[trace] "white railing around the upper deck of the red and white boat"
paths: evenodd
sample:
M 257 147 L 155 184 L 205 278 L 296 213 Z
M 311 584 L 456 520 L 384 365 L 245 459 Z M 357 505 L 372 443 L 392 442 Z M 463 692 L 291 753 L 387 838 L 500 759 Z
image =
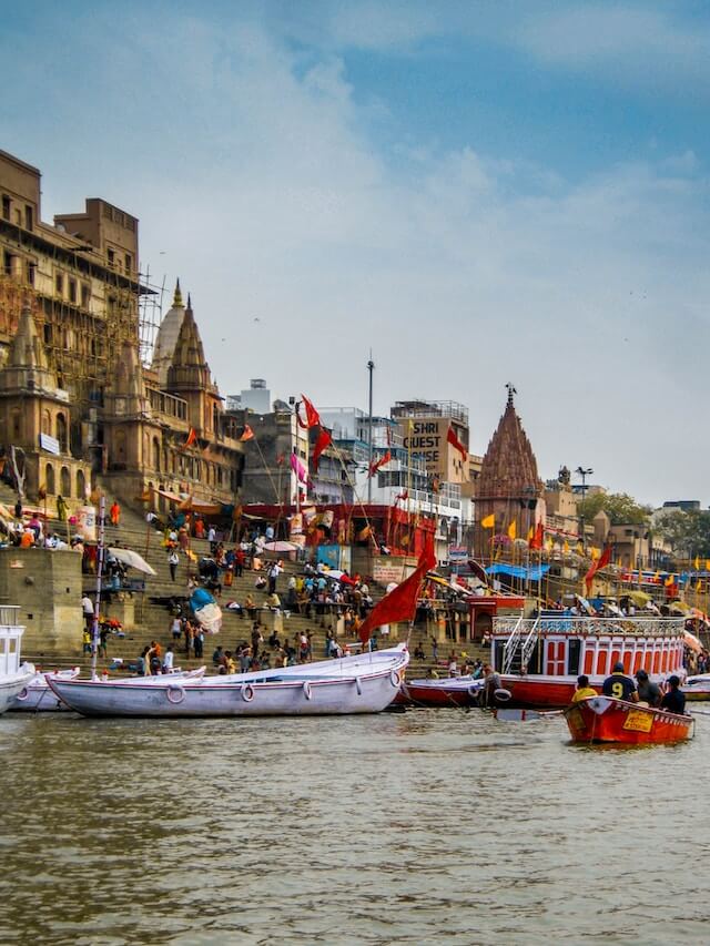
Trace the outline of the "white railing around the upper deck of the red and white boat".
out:
M 680 638 L 686 627 L 684 618 L 494 618 L 495 637 L 508 637 L 506 649 L 525 634 L 568 634 L 570 637 L 639 637 Z M 532 644 L 534 647 L 534 644 Z M 531 651 L 530 651 L 531 652 Z M 504 650 L 505 653 L 505 650 Z

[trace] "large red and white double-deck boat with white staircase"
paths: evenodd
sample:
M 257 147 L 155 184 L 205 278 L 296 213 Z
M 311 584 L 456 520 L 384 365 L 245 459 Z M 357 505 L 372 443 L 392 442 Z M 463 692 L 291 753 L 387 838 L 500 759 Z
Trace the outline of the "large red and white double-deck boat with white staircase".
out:
M 495 618 L 491 663 L 507 705 L 552 709 L 567 706 L 577 677 L 601 690 L 615 664 L 632 677 L 643 669 L 656 683 L 671 674 L 681 680 L 684 618 L 559 617 Z

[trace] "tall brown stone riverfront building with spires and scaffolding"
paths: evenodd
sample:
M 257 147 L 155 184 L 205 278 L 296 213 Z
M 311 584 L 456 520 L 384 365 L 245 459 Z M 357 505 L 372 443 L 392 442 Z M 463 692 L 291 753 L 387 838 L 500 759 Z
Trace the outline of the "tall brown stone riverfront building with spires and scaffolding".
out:
M 28 498 L 231 502 L 242 449 L 180 287 L 159 328 L 139 221 L 101 199 L 42 221 L 41 174 L 0 152 L 0 448 Z M 155 352 L 153 357 L 153 340 Z

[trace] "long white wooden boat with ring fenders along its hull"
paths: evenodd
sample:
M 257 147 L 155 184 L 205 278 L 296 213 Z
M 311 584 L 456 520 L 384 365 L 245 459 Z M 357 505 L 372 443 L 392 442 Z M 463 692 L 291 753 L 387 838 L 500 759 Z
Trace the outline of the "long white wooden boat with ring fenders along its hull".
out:
M 399 692 L 404 644 L 297 667 L 175 680 L 53 680 L 49 685 L 85 716 L 301 716 L 378 713 Z

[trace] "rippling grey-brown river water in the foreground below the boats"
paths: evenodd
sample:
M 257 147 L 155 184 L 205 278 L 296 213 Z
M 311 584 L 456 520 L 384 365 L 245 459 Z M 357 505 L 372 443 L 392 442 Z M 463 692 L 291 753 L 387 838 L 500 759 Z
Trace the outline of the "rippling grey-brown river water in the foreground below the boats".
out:
M 0 718 L 0 942 L 708 942 L 710 716 Z

